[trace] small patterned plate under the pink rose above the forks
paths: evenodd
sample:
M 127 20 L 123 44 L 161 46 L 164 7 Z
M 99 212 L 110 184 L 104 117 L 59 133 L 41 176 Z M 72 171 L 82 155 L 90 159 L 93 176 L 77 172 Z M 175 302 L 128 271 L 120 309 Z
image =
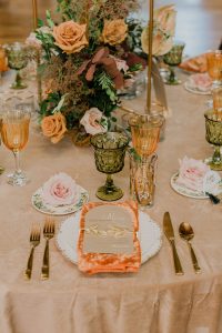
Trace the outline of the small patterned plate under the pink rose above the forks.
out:
M 50 214 L 50 215 L 67 215 L 79 211 L 84 203 L 89 201 L 89 193 L 82 186 L 79 186 L 80 195 L 75 202 L 72 204 L 58 205 L 53 206 L 48 204 L 42 199 L 42 188 L 38 189 L 31 199 L 32 205 L 36 210 L 41 213 Z

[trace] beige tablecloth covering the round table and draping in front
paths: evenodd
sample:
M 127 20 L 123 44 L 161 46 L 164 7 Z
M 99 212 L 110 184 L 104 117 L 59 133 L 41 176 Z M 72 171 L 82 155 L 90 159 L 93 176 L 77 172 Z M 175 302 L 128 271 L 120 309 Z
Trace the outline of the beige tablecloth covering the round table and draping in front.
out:
M 185 79 L 185 77 L 183 77 Z M 31 205 L 32 193 L 53 173 L 64 171 L 88 189 L 90 199 L 103 183 L 95 170 L 91 148 L 77 148 L 69 139 L 57 145 L 32 127 L 22 164 L 31 182 L 12 188 L 0 178 L 0 332 L 1 333 L 221 333 L 222 326 L 222 204 L 175 193 L 170 178 L 185 154 L 203 159 L 212 154 L 204 139 L 204 103 L 208 97 L 189 93 L 183 85 L 168 87 L 172 117 L 165 140 L 158 149 L 155 203 L 147 213 L 162 226 L 165 211 L 172 216 L 178 251 L 185 274 L 174 274 L 170 244 L 163 236 L 160 252 L 137 274 L 87 276 L 50 244 L 51 278 L 40 280 L 44 242 L 37 248 L 31 281 L 23 270 L 29 254 L 32 222 L 44 215 Z M 134 103 L 143 109 L 142 98 Z M 12 154 L 0 149 L 0 163 L 9 171 Z M 114 175 L 129 198 L 129 162 Z M 65 218 L 57 218 L 57 224 Z M 195 231 L 193 246 L 201 274 L 193 272 L 188 245 L 178 226 L 189 221 Z

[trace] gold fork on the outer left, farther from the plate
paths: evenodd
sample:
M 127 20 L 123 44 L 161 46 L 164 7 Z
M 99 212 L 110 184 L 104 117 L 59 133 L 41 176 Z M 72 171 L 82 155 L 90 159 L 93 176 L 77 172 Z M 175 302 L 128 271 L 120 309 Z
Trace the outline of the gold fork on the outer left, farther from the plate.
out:
M 40 243 L 40 225 L 39 224 L 34 224 L 31 229 L 30 243 L 31 243 L 31 252 L 30 252 L 30 255 L 29 255 L 29 259 L 27 262 L 27 269 L 24 272 L 24 278 L 27 280 L 31 279 L 34 249 Z

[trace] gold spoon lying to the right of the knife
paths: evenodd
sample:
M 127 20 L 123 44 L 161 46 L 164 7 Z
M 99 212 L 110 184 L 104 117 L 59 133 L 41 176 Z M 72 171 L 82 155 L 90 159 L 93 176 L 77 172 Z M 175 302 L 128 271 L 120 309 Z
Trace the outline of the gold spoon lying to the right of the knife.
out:
M 191 259 L 192 259 L 192 263 L 193 263 L 193 268 L 194 268 L 195 273 L 200 273 L 201 268 L 199 266 L 198 259 L 195 256 L 195 253 L 194 253 L 193 248 L 192 248 L 191 242 L 190 242 L 194 238 L 194 231 L 193 231 L 192 226 L 190 225 L 190 223 L 182 222 L 179 226 L 179 233 L 180 233 L 180 236 L 184 241 L 186 241 L 186 243 L 190 248 Z

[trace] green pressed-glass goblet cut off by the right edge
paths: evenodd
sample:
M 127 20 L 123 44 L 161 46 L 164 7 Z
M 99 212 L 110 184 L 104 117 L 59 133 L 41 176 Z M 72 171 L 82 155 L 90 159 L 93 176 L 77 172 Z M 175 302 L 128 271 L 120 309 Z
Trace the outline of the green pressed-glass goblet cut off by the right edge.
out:
M 205 139 L 214 145 L 213 157 L 206 159 L 205 162 L 212 170 L 222 170 L 222 112 L 215 110 L 206 111 L 205 114 Z

